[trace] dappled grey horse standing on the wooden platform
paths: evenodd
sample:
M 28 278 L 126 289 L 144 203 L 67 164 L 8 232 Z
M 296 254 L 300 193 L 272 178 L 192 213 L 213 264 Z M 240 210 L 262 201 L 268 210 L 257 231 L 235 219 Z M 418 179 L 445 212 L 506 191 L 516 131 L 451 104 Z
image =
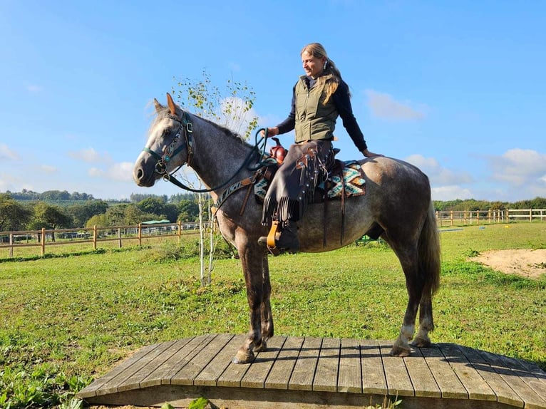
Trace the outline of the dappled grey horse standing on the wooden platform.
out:
M 163 178 L 197 192 L 172 175 L 188 165 L 207 187 L 201 191 L 221 201 L 215 214 L 217 225 L 239 253 L 250 310 L 249 332 L 232 361 L 249 363 L 255 353 L 266 350 L 267 340 L 274 334 L 269 252 L 258 243 L 268 229 L 261 224 L 262 205 L 248 200 L 247 189 L 234 186 L 252 185 L 262 155 L 256 145 L 231 130 L 182 110 L 170 94 L 167 102 L 164 106 L 154 99 L 156 115 L 135 162 L 133 179 L 141 187 L 152 187 Z M 299 251 L 328 252 L 366 234 L 381 237 L 398 257 L 408 291 L 406 313 L 390 353 L 409 356 L 411 346 L 431 346 L 432 299 L 440 282 L 440 243 L 431 186 L 421 170 L 402 160 L 371 157 L 359 163 L 365 174 L 366 193 L 346 198 L 343 209 L 340 200 L 309 204 L 298 222 Z M 418 310 L 419 327 L 414 338 Z

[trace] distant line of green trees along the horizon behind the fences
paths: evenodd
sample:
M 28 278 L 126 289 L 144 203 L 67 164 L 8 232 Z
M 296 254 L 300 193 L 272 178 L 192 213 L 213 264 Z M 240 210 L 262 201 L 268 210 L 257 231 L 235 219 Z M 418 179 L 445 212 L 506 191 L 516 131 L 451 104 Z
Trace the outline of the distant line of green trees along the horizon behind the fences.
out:
M 66 202 L 70 204 L 67 205 Z M 535 197 L 513 203 L 474 199 L 435 200 L 434 207 L 438 211 L 546 209 L 546 198 Z M 172 223 L 197 222 L 197 196 L 192 193 L 170 197 L 133 194 L 130 195 L 130 202 L 106 202 L 86 193 L 58 190 L 43 193 L 29 190 L 0 193 L 0 232 L 123 226 L 164 219 Z

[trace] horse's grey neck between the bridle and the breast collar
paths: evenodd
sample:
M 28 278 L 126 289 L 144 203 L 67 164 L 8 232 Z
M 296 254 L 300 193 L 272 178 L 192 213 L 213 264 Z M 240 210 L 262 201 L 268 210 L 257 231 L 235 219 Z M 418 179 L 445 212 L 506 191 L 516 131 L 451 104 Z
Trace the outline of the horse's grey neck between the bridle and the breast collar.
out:
M 225 135 L 224 130 L 217 128 L 201 118 L 195 118 L 193 128 L 193 157 L 191 167 L 208 188 L 214 189 L 230 180 L 249 154 L 249 145 L 242 141 Z M 231 183 L 238 182 L 249 175 L 249 170 L 244 167 L 236 177 L 220 189 L 216 195 L 220 195 Z

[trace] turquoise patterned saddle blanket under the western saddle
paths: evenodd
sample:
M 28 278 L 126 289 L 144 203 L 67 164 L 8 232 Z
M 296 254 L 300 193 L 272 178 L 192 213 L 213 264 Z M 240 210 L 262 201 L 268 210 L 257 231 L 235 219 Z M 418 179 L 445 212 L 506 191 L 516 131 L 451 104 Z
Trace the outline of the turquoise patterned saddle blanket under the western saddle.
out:
M 334 174 L 316 187 L 316 189 L 326 190 L 328 199 L 339 199 L 344 194 L 345 197 L 366 195 L 366 179 L 364 179 L 364 170 L 356 160 L 341 162 L 344 167 L 341 174 Z M 265 179 L 259 180 L 254 184 L 254 195 L 257 200 L 263 201 L 269 182 Z

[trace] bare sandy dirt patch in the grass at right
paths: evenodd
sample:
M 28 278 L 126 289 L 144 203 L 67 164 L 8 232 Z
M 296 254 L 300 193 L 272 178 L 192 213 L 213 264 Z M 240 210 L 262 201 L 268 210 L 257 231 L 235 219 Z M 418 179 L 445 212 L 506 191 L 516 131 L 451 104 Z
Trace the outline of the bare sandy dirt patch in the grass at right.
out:
M 493 250 L 470 257 L 469 260 L 506 274 L 519 274 L 530 279 L 546 274 L 546 249 Z

